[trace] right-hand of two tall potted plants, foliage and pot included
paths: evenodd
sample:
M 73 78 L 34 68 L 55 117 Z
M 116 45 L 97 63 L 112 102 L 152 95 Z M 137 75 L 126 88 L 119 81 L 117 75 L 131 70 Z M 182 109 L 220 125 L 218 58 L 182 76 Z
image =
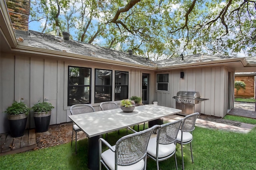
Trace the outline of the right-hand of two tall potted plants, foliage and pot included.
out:
M 36 126 L 36 132 L 46 132 L 49 129 L 51 111 L 54 108 L 51 103 L 38 102 L 32 106 L 34 111 L 34 121 Z

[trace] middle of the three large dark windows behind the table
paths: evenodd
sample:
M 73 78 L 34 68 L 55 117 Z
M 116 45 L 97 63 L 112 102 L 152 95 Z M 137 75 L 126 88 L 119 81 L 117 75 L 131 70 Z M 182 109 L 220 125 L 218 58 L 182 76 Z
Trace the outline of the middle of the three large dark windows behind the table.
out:
M 112 101 L 112 70 L 95 69 L 94 103 Z

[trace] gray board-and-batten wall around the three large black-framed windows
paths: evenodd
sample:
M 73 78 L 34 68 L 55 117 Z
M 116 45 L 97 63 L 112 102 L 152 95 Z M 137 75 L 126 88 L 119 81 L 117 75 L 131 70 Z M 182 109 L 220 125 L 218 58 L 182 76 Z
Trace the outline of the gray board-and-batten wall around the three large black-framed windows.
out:
M 54 109 L 52 110 L 50 124 L 58 124 L 69 122 L 70 115 L 67 106 L 68 100 L 68 66 L 82 66 L 92 68 L 92 106 L 95 110 L 99 110 L 99 103 L 94 104 L 94 68 L 113 70 L 114 71 L 128 71 L 128 97 L 141 96 L 141 80 L 142 73 L 154 75 L 150 70 L 140 70 L 122 66 L 114 66 L 109 64 L 97 64 L 64 61 L 49 58 L 14 56 L 12 54 L 1 53 L 0 55 L 0 133 L 9 131 L 8 120 L 6 113 L 3 113 L 14 100 L 20 101 L 24 99 L 24 103 L 32 107 L 38 101 L 50 102 Z M 151 78 L 150 78 L 151 79 Z M 154 79 L 151 79 L 151 82 Z M 151 83 L 154 85 L 154 83 Z M 154 88 L 154 87 L 152 87 Z M 151 89 L 152 89 L 151 88 Z M 152 90 L 150 90 L 150 101 L 152 103 L 154 97 Z M 112 85 L 112 100 L 114 101 L 114 82 Z M 116 101 L 119 103 L 119 101 Z M 33 111 L 30 111 L 28 116 L 26 128 L 34 128 Z

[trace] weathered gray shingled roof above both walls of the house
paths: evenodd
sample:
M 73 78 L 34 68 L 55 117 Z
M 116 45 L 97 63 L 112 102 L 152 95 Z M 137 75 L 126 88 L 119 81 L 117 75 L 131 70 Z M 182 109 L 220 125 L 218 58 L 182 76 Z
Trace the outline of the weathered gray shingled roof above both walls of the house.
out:
M 64 51 L 70 54 L 82 55 L 84 57 L 93 57 L 98 59 L 107 59 L 111 61 L 124 62 L 128 64 L 137 64 L 138 66 L 149 66 L 155 68 L 174 68 L 177 66 L 189 66 L 189 65 L 204 65 L 215 62 L 228 62 L 232 59 L 241 59 L 241 57 L 230 57 L 222 55 L 188 55 L 184 56 L 184 60 L 181 57 L 171 58 L 161 61 L 150 61 L 144 57 L 137 55 L 129 55 L 122 51 L 116 51 L 96 45 L 74 41 L 64 40 L 62 37 L 56 37 L 37 31 L 29 31 L 28 35 L 19 34 L 16 32 L 16 37 L 22 37 L 29 47 L 38 47 L 42 49 L 49 49 L 54 51 Z

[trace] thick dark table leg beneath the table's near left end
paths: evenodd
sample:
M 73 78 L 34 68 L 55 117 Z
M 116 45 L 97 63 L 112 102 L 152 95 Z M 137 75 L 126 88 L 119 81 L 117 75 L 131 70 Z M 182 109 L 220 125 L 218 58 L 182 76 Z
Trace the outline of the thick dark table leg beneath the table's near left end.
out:
M 88 167 L 90 170 L 99 169 L 99 139 L 102 135 L 88 138 Z

